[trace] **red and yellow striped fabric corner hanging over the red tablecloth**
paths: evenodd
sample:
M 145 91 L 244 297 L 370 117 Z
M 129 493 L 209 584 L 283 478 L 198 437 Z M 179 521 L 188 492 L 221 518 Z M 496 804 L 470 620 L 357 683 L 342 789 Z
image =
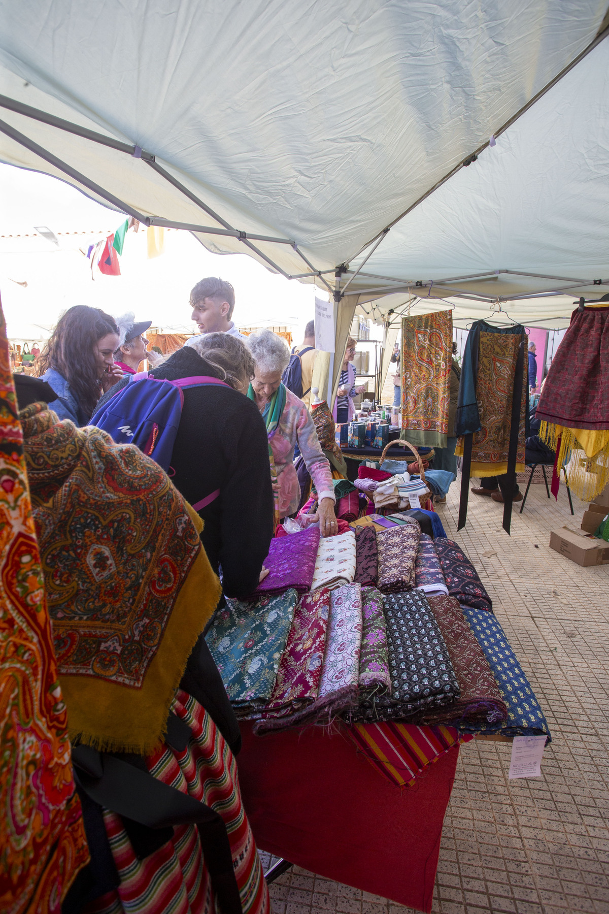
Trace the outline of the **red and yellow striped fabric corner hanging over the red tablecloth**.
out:
M 412 787 L 448 749 L 473 739 L 454 727 L 397 723 L 355 724 L 347 732 L 373 768 L 397 787 Z

